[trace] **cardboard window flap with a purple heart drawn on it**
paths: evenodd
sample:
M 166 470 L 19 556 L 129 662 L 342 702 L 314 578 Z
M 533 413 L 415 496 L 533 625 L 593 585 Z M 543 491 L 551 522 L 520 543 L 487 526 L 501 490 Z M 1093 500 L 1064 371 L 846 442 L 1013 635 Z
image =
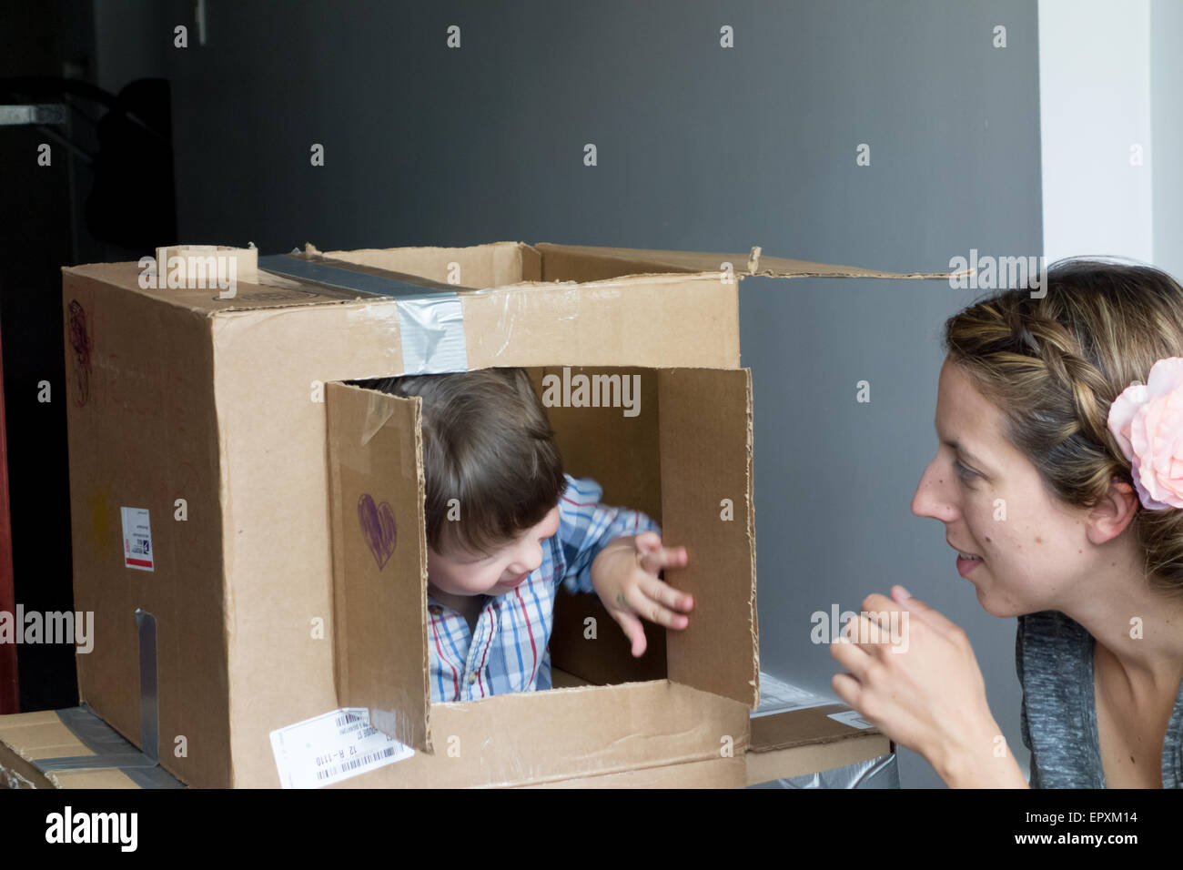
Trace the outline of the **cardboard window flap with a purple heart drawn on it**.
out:
M 341 707 L 431 752 L 422 399 L 325 385 Z

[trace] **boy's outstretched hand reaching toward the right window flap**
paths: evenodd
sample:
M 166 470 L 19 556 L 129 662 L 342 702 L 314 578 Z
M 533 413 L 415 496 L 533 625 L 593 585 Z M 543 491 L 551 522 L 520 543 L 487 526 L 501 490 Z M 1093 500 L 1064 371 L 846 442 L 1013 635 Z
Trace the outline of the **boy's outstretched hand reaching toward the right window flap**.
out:
M 655 531 L 616 537 L 592 562 L 592 586 L 612 618 L 633 642 L 633 657 L 645 655 L 645 629 L 638 616 L 667 629 L 685 629 L 694 606 L 691 595 L 658 579 L 661 568 L 686 565 L 685 547 L 662 547 Z

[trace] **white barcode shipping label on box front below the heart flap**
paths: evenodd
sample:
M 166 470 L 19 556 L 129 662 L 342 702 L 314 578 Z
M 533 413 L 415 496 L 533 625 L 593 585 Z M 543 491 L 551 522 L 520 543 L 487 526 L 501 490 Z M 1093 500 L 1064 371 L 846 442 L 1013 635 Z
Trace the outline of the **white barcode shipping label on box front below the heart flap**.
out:
M 369 710 L 347 707 L 271 732 L 284 788 L 322 788 L 409 759 L 415 750 L 369 724 Z

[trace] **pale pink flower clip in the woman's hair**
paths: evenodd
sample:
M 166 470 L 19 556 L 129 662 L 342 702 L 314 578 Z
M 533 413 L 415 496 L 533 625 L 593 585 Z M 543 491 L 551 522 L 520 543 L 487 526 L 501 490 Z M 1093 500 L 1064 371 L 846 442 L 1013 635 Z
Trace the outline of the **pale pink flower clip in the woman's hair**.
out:
M 1183 357 L 1169 356 L 1110 406 L 1108 427 L 1149 510 L 1183 508 Z

